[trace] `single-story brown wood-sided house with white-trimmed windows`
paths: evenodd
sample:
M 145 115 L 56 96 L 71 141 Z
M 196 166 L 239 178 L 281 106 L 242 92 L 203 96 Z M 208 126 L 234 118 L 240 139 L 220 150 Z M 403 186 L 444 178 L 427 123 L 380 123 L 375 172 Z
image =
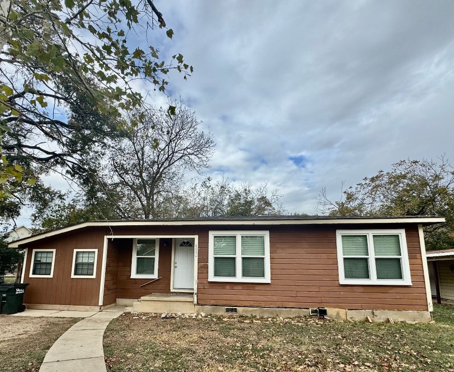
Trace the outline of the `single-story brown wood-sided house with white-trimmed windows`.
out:
M 429 321 L 443 217 L 91 221 L 16 241 L 28 308 Z

